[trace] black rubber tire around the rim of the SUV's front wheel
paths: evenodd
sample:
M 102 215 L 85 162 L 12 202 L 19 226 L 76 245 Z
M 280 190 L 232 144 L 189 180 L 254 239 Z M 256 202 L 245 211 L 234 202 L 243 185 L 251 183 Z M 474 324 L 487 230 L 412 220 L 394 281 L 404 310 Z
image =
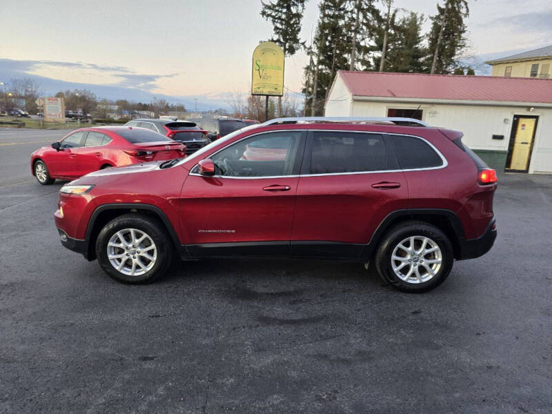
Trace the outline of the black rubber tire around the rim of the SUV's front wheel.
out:
M 108 244 L 110 239 L 115 237 L 120 230 L 125 231 L 129 229 L 135 229 L 146 234 L 155 244 L 157 258 L 155 262 L 153 262 L 154 264 L 152 267 L 141 275 L 127 275 L 117 270 L 117 268 L 114 267 L 115 265 L 112 265 L 108 258 Z M 137 246 L 137 248 L 133 250 L 117 248 L 117 254 L 129 256 L 129 254 L 132 255 L 132 251 L 140 253 L 138 250 L 139 248 L 140 246 Z M 130 213 L 112 219 L 101 229 L 96 242 L 96 256 L 101 268 L 103 268 L 110 277 L 117 280 L 117 282 L 126 284 L 148 284 L 164 275 L 170 268 L 174 256 L 174 246 L 166 228 L 159 219 L 148 215 Z M 129 266 L 130 263 L 133 262 L 132 257 L 134 256 L 129 256 L 128 259 L 125 259 L 130 261 L 126 262 Z M 144 262 L 144 258 L 140 255 L 136 255 L 135 257 L 138 257 L 140 262 Z M 151 262 L 146 259 L 146 264 L 149 263 Z M 125 270 L 125 267 L 123 267 L 123 270 Z

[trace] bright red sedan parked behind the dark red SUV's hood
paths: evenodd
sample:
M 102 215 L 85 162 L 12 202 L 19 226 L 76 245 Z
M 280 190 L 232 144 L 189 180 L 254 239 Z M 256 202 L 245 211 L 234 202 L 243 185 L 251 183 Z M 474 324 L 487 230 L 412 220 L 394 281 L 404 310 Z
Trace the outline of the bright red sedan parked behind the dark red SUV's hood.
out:
M 31 172 L 40 184 L 75 179 L 92 171 L 186 156 L 186 146 L 144 128 L 81 128 L 34 151 Z

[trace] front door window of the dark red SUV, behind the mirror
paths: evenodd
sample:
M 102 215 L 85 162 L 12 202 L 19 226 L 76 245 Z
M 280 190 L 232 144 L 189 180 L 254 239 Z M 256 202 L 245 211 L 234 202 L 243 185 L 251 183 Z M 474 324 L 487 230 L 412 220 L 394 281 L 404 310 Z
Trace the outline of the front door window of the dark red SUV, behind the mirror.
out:
M 224 177 L 273 177 L 292 175 L 300 131 L 269 132 L 243 139 L 224 148 L 212 159 L 217 175 Z

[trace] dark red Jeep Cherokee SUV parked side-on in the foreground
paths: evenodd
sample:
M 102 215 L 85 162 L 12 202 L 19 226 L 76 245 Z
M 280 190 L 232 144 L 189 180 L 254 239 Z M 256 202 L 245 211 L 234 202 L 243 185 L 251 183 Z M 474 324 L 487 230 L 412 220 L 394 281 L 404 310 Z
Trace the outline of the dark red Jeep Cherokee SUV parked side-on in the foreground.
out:
M 495 171 L 461 137 L 413 119 L 268 121 L 72 181 L 55 221 L 120 282 L 151 282 L 173 253 L 290 256 L 373 261 L 395 288 L 425 291 L 496 237 Z

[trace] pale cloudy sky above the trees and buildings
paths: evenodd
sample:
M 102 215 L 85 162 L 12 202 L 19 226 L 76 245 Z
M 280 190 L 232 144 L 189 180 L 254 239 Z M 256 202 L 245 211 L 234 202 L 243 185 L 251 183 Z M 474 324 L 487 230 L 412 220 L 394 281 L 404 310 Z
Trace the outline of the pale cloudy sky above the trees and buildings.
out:
M 393 6 L 428 16 L 436 2 L 395 0 Z M 550 0 L 524 1 L 524 7 L 511 0 L 469 4 L 468 55 L 509 55 L 552 43 Z M 260 8 L 260 0 L 28 0 L 24 7 L 5 1 L 0 78 L 9 68 L 10 73 L 169 96 L 246 92 L 253 48 L 272 34 Z M 308 1 L 306 41 L 317 15 L 318 1 Z M 288 89 L 300 90 L 305 63 L 303 52 L 286 59 Z

